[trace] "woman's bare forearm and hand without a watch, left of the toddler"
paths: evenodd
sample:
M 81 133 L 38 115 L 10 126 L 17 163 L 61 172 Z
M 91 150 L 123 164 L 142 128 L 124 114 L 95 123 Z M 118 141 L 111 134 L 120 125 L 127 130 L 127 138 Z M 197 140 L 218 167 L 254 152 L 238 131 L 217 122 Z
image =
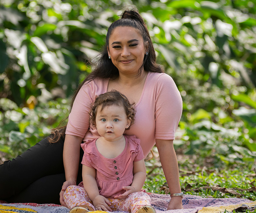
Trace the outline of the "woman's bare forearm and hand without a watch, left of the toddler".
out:
M 60 191 L 60 204 L 66 206 L 63 193 L 70 185 L 76 185 L 82 138 L 66 134 L 63 148 L 63 164 L 66 181 Z

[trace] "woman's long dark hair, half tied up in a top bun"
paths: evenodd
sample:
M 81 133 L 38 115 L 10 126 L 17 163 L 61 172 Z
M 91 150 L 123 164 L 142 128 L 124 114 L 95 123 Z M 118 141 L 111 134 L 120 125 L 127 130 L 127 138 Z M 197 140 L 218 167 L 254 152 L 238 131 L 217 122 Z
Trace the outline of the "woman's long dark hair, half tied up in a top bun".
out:
M 142 72 L 143 68 L 145 71 L 148 72 L 157 72 L 162 73 L 164 72 L 161 65 L 156 63 L 156 53 L 153 46 L 153 43 L 151 41 L 148 28 L 143 20 L 143 18 L 140 16 L 140 14 L 132 10 L 125 10 L 123 14 L 121 15 L 121 19 L 116 20 L 108 27 L 108 32 L 106 36 L 106 44 L 103 47 L 98 60 L 94 62 L 92 66 L 92 72 L 84 79 L 84 81 L 77 87 L 73 98 L 71 100 L 71 107 L 73 106 L 74 100 L 76 98 L 76 95 L 80 88 L 84 85 L 86 82 L 90 82 L 93 79 L 100 78 L 100 79 L 116 79 L 119 76 L 118 69 L 116 66 L 112 63 L 112 61 L 108 58 L 108 46 L 109 46 L 109 37 L 111 36 L 112 32 L 116 27 L 133 27 L 134 29 L 138 30 L 138 32 L 141 34 L 144 45 L 148 45 L 148 55 L 144 55 L 143 64 L 141 65 L 140 69 L 138 70 L 138 76 Z M 67 120 L 67 118 L 65 119 Z M 64 121 L 65 121 L 64 120 Z M 52 137 L 49 137 L 49 142 L 57 142 L 60 140 L 60 137 L 65 136 L 67 126 L 60 126 L 55 129 L 52 129 Z

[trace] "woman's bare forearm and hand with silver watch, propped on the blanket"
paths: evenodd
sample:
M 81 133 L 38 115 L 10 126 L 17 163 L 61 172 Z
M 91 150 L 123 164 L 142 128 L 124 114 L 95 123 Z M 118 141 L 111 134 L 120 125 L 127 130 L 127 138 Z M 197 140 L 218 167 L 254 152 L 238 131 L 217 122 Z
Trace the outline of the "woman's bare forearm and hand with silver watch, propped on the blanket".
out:
M 165 179 L 171 194 L 181 193 L 179 168 L 176 153 L 173 147 L 173 140 L 156 139 L 156 147 L 160 156 Z M 182 209 L 181 196 L 172 197 L 168 209 Z

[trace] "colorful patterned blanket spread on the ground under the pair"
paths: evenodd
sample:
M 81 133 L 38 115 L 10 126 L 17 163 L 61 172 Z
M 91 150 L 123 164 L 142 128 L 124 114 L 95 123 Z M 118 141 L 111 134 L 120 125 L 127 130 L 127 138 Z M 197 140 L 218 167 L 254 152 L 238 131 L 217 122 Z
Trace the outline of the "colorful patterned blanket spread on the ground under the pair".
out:
M 196 195 L 184 195 L 182 200 L 184 209 L 166 210 L 170 202 L 170 195 L 148 193 L 151 197 L 151 205 L 156 213 L 214 213 L 224 212 L 225 209 L 255 209 L 256 201 L 240 198 L 202 198 Z M 0 202 L 0 213 L 68 213 L 69 209 L 56 204 L 36 203 L 4 203 Z M 103 213 L 95 211 L 94 213 Z M 127 212 L 118 212 L 127 213 Z

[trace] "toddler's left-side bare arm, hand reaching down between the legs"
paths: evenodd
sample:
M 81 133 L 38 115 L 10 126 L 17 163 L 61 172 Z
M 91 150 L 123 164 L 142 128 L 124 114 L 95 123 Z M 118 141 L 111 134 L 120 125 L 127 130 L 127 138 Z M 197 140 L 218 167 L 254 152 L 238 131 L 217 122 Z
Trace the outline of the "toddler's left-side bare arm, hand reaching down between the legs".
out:
M 99 211 L 112 211 L 108 205 L 110 202 L 99 193 L 99 188 L 96 182 L 96 169 L 83 165 L 83 184 L 93 206 Z

